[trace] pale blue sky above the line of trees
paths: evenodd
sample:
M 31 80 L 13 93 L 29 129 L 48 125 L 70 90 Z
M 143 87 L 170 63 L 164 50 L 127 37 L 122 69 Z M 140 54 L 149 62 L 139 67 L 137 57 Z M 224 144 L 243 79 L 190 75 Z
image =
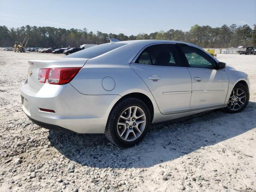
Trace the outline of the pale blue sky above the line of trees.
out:
M 0 0 L 0 25 L 87 28 L 126 35 L 194 24 L 256 23 L 256 0 Z

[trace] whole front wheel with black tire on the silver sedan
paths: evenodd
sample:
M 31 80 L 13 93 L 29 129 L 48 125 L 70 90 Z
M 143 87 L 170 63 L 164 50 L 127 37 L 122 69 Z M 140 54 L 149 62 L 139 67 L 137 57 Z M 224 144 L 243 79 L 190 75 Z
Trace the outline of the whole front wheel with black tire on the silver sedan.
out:
M 228 106 L 224 108 L 224 111 L 227 113 L 239 113 L 246 108 L 249 99 L 250 93 L 248 87 L 238 83 L 234 86 L 228 101 Z

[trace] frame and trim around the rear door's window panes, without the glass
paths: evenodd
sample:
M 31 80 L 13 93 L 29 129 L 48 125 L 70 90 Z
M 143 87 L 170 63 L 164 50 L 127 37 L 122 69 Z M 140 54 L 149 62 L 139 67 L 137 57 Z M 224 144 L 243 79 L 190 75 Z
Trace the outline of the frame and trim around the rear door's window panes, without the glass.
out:
M 151 47 L 151 46 L 154 46 L 154 45 L 164 45 L 164 44 L 171 44 L 171 45 L 174 45 L 174 46 L 175 46 L 176 51 L 177 51 L 177 54 L 178 54 L 178 59 L 180 60 L 180 64 L 181 64 L 182 66 L 160 66 L 160 65 L 152 65 L 153 62 L 152 62 L 150 50 L 149 50 L 148 48 Z M 136 60 L 140 57 L 140 55 L 141 55 L 141 54 L 144 52 L 144 50 L 146 50 L 146 49 L 148 49 L 148 53 L 149 53 L 149 55 L 150 55 L 151 65 L 136 63 Z M 138 52 L 138 54 L 136 54 L 136 56 L 135 56 L 134 59 L 130 62 L 130 64 L 144 65 L 144 66 L 154 66 L 154 67 L 187 68 L 186 63 L 183 61 L 182 54 L 180 53 L 180 50 L 179 50 L 177 44 L 174 43 L 174 42 L 159 42 L 159 43 L 149 44 L 149 45 L 145 46 L 144 48 L 142 48 L 142 49 Z

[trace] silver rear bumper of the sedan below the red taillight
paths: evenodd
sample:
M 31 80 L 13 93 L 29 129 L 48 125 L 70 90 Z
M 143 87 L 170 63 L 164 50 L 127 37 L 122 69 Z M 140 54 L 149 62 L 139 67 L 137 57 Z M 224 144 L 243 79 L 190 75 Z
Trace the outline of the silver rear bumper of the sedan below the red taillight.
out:
M 84 95 L 71 84 L 46 83 L 38 92 L 33 92 L 27 82 L 21 88 L 21 96 L 22 109 L 33 122 L 52 130 L 67 129 L 76 133 L 104 133 L 110 110 L 121 98 L 119 95 Z

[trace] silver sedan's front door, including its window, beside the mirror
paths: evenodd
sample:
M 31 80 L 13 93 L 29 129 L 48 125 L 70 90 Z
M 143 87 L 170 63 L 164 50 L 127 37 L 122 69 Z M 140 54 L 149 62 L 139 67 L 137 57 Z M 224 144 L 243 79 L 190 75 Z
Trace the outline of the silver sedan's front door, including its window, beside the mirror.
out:
M 228 92 L 228 76 L 216 70 L 216 62 L 202 50 L 180 45 L 192 78 L 191 109 L 223 105 Z

